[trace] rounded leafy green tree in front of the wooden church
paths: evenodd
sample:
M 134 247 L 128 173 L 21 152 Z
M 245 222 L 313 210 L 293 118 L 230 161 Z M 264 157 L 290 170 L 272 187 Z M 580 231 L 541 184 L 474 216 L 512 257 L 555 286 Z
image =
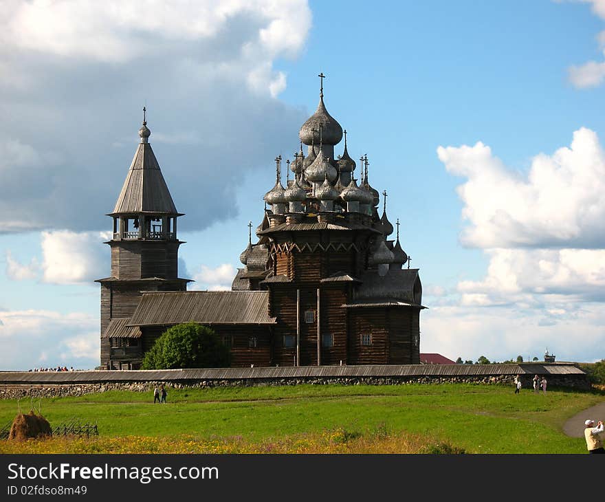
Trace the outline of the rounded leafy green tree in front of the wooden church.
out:
M 166 329 L 145 354 L 142 369 L 220 368 L 229 349 L 212 329 L 184 323 Z

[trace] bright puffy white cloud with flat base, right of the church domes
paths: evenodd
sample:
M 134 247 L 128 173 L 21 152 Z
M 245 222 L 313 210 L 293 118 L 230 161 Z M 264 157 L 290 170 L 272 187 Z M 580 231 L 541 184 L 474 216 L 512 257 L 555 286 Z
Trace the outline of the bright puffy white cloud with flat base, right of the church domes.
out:
M 506 168 L 489 146 L 439 146 L 439 160 L 467 177 L 458 194 L 470 223 L 465 245 L 478 248 L 605 248 L 605 155 L 581 128 L 571 146 L 533 157 L 527 176 Z

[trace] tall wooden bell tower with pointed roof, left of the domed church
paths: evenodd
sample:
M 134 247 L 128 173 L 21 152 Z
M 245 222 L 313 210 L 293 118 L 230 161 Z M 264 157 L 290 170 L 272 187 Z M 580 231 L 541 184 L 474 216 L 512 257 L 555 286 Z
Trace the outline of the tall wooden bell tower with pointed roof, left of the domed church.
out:
M 111 276 L 101 285 L 101 368 L 137 369 L 149 347 L 137 327 L 129 327 L 143 292 L 186 291 L 179 279 L 177 211 L 155 158 L 143 108 L 141 138 L 122 191 L 115 202 Z

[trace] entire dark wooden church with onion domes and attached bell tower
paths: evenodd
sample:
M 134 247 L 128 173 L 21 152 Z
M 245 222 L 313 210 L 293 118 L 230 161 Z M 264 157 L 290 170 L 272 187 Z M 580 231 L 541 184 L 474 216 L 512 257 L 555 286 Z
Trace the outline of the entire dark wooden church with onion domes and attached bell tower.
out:
M 323 82 L 323 75 L 320 74 Z M 234 367 L 419 364 L 422 286 L 386 215 L 383 192 L 334 149 L 343 138 L 320 86 L 300 151 L 275 162 L 265 214 L 249 232 L 228 292 L 187 291 L 178 276 L 177 211 L 144 118 L 113 219 L 111 276 L 101 285 L 101 368 L 137 369 L 170 326 L 195 321 L 230 347 Z M 303 150 L 307 146 L 307 153 Z M 290 176 L 292 172 L 292 179 Z M 405 265 L 407 264 L 407 268 Z

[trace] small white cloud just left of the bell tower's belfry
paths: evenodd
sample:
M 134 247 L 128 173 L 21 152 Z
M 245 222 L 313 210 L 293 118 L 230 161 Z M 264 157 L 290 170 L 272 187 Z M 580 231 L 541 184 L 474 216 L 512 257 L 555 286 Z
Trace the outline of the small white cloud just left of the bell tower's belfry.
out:
M 90 283 L 108 276 L 107 232 L 42 232 L 43 281 L 54 284 Z

